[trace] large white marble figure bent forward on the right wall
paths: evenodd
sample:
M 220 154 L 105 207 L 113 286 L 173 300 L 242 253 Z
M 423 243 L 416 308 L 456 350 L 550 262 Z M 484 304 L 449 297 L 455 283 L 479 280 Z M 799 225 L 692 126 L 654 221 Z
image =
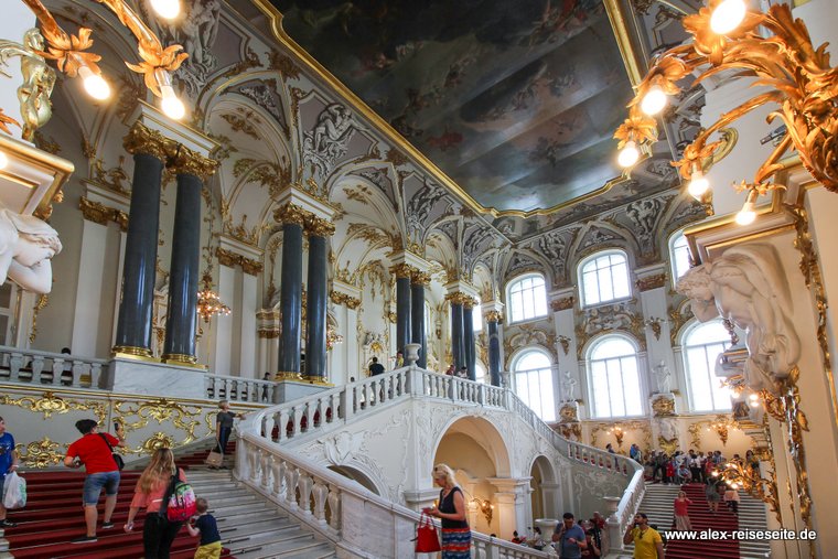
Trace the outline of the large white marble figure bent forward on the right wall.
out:
M 690 269 L 678 282 L 706 322 L 728 319 L 745 331 L 749 357 L 744 377 L 752 389 L 773 389 L 786 378 L 801 354 L 789 318 L 792 297 L 776 250 L 769 245 L 728 249 L 721 258 Z

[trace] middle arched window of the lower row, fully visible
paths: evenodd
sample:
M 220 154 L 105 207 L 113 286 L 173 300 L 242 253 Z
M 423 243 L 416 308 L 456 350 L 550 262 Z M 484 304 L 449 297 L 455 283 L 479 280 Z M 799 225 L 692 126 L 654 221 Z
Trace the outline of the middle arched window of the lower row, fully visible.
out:
M 637 350 L 620 335 L 605 336 L 588 353 L 593 417 L 643 415 Z

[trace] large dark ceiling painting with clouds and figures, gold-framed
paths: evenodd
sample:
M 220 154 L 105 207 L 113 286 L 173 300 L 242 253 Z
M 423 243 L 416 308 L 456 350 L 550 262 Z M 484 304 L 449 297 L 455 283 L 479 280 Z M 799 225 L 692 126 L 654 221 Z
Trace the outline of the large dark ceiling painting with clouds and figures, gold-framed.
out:
M 620 175 L 632 89 L 600 0 L 272 0 L 286 32 L 480 204 Z

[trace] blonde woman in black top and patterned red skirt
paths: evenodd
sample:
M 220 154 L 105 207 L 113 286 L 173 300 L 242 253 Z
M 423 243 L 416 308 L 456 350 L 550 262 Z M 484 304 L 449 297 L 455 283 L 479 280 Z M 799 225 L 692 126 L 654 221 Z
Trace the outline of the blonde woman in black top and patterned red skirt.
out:
M 423 512 L 442 520 L 442 559 L 471 559 L 471 528 L 465 519 L 465 497 L 445 464 L 433 469 L 433 483 L 442 487 L 439 508 Z

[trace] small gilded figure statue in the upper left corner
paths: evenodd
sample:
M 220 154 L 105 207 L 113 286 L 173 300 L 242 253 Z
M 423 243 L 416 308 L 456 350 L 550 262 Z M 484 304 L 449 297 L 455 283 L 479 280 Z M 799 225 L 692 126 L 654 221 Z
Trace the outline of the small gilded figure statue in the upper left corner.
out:
M 44 37 L 37 28 L 26 31 L 23 44 L 0 40 L 0 63 L 8 65 L 10 57 L 20 56 L 23 83 L 18 87 L 18 99 L 23 119 L 21 137 L 26 141 L 32 141 L 35 130 L 52 117 L 50 96 L 55 86 L 55 71 L 39 54 L 43 51 Z M 8 74 L 6 76 L 9 77 Z

